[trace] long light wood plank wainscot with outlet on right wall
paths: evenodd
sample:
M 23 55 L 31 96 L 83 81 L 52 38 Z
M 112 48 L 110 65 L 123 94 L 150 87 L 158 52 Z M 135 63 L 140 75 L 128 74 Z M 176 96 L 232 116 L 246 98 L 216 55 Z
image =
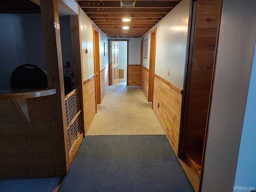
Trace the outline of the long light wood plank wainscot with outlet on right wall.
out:
M 181 90 L 154 74 L 153 111 L 176 155 L 178 155 L 180 135 L 181 104 Z

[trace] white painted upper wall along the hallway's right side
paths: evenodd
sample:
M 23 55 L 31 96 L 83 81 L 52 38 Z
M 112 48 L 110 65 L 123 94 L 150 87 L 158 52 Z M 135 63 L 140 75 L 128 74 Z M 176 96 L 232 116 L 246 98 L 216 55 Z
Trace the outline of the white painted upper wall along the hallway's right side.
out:
M 155 73 L 181 89 L 184 84 L 189 10 L 190 0 L 182 0 L 153 27 L 156 27 Z M 148 39 L 148 58 L 144 58 L 143 66 L 148 69 L 150 31 L 143 36 L 144 40 Z

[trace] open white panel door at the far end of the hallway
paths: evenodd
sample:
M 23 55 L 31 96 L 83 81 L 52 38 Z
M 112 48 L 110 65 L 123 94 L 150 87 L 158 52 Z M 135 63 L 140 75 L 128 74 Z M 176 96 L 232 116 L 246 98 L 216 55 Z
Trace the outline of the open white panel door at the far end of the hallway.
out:
M 112 85 L 119 82 L 118 74 L 118 42 L 111 41 L 111 65 L 112 65 Z

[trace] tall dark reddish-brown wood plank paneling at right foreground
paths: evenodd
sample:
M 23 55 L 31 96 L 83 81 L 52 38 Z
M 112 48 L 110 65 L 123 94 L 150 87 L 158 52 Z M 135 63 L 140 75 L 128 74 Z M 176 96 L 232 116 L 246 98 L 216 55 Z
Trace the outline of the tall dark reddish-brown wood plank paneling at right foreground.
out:
M 201 173 L 221 6 L 222 0 L 197 1 L 194 34 L 189 41 L 190 57 L 188 57 L 187 64 L 187 69 L 189 70 L 186 70 L 186 83 L 182 100 L 182 109 L 184 110 L 182 129 L 186 130 L 186 132 L 183 134 L 184 139 L 181 145 L 182 153 L 185 153 L 192 160 L 189 162 L 197 159 L 198 167 L 192 167 L 194 167 L 199 176 Z M 188 149 L 188 153 L 185 152 L 186 149 Z M 200 191 L 200 183 L 193 185 L 196 186 L 194 188 L 196 191 Z

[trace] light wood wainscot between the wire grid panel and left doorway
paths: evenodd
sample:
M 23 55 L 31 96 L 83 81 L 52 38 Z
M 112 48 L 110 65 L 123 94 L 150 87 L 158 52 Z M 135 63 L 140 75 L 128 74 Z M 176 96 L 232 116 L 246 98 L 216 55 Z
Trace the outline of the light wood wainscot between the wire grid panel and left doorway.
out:
M 84 81 L 84 134 L 96 114 L 95 75 Z

